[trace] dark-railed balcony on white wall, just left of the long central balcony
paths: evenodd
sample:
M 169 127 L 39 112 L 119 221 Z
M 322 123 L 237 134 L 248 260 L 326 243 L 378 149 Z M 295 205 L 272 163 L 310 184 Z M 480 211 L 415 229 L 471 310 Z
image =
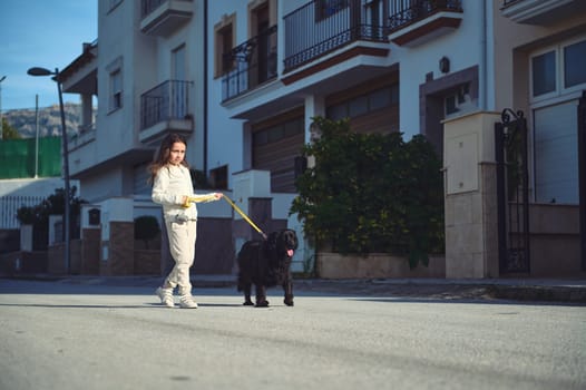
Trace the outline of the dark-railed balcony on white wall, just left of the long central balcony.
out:
M 224 56 L 233 70 L 222 78 L 222 101 L 241 96 L 276 78 L 276 25 L 236 46 Z

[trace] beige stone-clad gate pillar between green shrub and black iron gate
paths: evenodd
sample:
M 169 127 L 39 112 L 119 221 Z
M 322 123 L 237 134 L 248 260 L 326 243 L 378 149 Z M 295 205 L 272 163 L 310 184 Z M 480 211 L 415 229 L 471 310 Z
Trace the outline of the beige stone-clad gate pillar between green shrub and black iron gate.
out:
M 475 113 L 443 126 L 446 277 L 498 277 L 495 124 Z

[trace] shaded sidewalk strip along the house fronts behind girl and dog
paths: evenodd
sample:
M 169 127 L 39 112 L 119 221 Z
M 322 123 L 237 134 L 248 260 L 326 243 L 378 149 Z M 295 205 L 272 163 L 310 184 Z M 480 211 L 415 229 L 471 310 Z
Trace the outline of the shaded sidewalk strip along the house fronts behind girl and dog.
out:
M 155 287 L 160 276 L 21 274 L 11 279 Z M 192 275 L 194 289 L 233 287 L 236 275 Z M 294 291 L 438 300 L 515 300 L 586 304 L 586 280 L 556 279 L 295 279 Z

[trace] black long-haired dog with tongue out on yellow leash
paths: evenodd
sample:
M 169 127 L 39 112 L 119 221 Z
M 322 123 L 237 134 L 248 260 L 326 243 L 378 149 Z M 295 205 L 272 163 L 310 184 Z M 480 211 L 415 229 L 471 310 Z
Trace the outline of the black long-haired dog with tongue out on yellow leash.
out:
M 244 292 L 244 304 L 252 305 L 251 287 L 256 290 L 256 308 L 268 306 L 266 287 L 283 286 L 285 304 L 293 305 L 291 260 L 297 248 L 295 231 L 273 232 L 263 241 L 247 241 L 238 252 L 238 291 Z

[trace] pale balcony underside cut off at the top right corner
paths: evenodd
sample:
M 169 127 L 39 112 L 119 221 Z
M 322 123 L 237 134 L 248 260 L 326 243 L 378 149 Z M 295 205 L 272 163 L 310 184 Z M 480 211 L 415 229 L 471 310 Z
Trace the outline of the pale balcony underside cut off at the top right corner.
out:
M 547 26 L 586 11 L 586 1 L 504 0 L 500 11 L 517 23 Z

